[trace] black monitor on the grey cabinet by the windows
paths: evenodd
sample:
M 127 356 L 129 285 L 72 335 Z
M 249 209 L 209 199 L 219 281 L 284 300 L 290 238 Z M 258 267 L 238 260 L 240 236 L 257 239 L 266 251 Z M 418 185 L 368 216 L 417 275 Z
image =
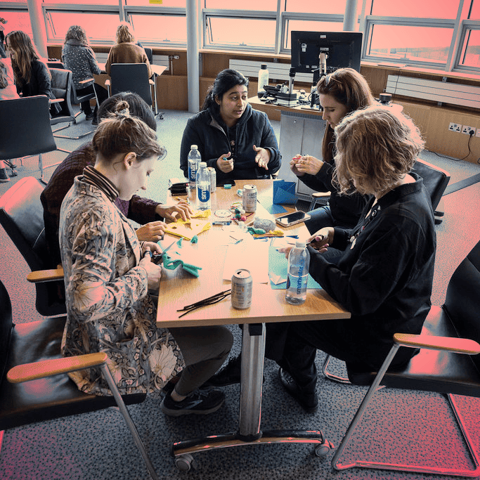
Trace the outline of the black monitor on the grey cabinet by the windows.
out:
M 360 72 L 361 32 L 292 32 L 292 67 L 310 73 L 320 67 L 320 53 L 327 55 L 327 73 L 351 67 Z

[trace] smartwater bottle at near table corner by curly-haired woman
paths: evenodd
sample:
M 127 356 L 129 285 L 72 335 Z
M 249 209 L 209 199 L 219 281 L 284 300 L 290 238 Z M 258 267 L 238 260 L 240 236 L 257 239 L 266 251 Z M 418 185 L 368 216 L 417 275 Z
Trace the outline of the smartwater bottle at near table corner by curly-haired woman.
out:
M 285 300 L 301 305 L 306 300 L 306 284 L 309 281 L 310 254 L 305 242 L 297 240 L 288 254 L 288 277 Z

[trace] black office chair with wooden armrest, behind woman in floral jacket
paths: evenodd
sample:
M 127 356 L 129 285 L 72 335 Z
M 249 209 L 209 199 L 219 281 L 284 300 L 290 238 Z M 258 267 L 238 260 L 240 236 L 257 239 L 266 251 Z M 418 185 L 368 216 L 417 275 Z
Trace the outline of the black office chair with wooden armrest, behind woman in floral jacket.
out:
M 6 100 L 11 101 L 11 100 Z M 44 228 L 41 183 L 27 176 L 0 197 L 0 223 L 32 270 L 27 280 L 35 284 L 35 307 L 42 316 L 65 315 L 63 269 L 49 266 Z

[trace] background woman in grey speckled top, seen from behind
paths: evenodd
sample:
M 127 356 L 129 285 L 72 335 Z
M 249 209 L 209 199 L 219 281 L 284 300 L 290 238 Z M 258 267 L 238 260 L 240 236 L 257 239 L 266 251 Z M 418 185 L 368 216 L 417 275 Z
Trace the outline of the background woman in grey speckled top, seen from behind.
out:
M 108 98 L 108 92 L 103 86 L 89 82 L 83 84 L 84 80 L 93 78 L 93 74 L 100 74 L 95 53 L 89 46 L 86 39 L 85 30 L 79 25 L 72 25 L 65 35 L 65 44 L 62 48 L 62 62 L 67 70 L 72 70 L 73 87 L 77 92 L 77 96 L 88 95 L 93 93 L 95 89 L 98 98 L 98 105 Z M 91 111 L 90 100 L 86 100 L 80 104 L 82 111 L 87 120 L 93 120 L 92 124 L 98 124 L 97 112 L 98 105 L 95 110 Z

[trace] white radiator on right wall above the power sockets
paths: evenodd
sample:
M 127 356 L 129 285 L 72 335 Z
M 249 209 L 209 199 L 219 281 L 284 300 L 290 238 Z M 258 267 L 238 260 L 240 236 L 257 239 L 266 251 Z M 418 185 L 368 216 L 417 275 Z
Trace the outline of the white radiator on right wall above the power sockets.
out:
M 387 93 L 480 108 L 480 87 L 389 75 Z

